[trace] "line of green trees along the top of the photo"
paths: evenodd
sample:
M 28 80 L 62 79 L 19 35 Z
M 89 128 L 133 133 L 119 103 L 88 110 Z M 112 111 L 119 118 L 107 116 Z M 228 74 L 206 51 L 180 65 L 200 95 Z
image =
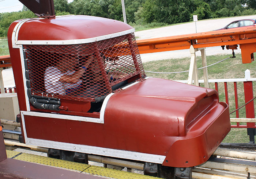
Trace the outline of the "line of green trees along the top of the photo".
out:
M 256 14 L 256 0 L 124 0 L 129 24 L 176 24 L 199 20 Z M 121 0 L 54 0 L 56 15 L 90 15 L 123 21 Z M 36 17 L 25 6 L 19 12 L 0 13 L 0 37 L 17 19 Z

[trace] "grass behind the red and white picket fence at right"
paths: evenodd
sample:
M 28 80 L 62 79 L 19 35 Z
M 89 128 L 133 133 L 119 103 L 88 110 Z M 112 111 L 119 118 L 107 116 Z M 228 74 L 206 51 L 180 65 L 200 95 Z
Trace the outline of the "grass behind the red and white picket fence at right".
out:
M 255 54 L 256 55 L 256 54 Z M 230 55 L 214 55 L 207 56 L 207 65 L 221 61 L 230 57 Z M 197 67 L 202 67 L 202 58 L 197 57 Z M 249 69 L 251 71 L 251 78 L 256 78 L 255 63 L 242 64 L 241 54 L 236 54 L 236 58 L 230 58 L 226 61 L 218 63 L 217 65 L 208 67 L 208 79 L 223 79 L 223 78 L 244 78 L 244 71 Z M 177 71 L 187 71 L 189 70 L 190 58 L 181 59 L 167 59 L 161 61 L 151 61 L 143 63 L 144 69 L 146 71 L 157 71 L 157 72 L 177 72 Z M 187 80 L 188 72 L 186 73 L 176 73 L 176 74 L 155 74 L 146 72 L 147 76 L 164 78 L 170 80 Z M 199 79 L 203 79 L 203 70 L 198 71 Z M 256 85 L 256 82 L 253 82 Z M 200 84 L 200 86 L 204 86 Z M 229 108 L 230 112 L 235 110 L 235 99 L 234 99 L 234 83 L 228 82 L 228 92 L 229 92 Z M 214 83 L 210 83 L 210 88 L 215 89 Z M 225 89 L 224 83 L 218 83 L 219 89 L 219 100 L 225 102 Z M 238 106 L 244 105 L 244 85 L 243 82 L 237 82 L 238 89 Z M 255 87 L 253 93 L 256 94 Z M 256 111 L 256 102 L 255 102 Z M 240 118 L 245 118 L 245 107 L 239 110 Z M 230 115 L 231 118 L 236 118 L 236 113 Z M 226 136 L 223 142 L 228 143 L 248 143 L 249 137 L 247 136 L 247 130 L 241 128 L 232 128 L 229 134 Z

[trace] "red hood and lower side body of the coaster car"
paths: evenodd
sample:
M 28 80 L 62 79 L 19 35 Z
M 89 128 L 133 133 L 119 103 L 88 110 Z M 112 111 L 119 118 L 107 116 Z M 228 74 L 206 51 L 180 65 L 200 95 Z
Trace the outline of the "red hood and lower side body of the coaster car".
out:
M 106 106 L 104 124 L 35 116 L 25 116 L 25 124 L 27 136 L 34 139 L 169 154 L 169 161 L 172 145 L 186 140 L 182 147 L 193 155 L 180 156 L 182 161 L 194 160 L 198 150 L 205 156 L 189 164 L 165 164 L 176 167 L 205 162 L 230 130 L 228 107 L 218 103 L 215 90 L 158 78 L 115 93 Z

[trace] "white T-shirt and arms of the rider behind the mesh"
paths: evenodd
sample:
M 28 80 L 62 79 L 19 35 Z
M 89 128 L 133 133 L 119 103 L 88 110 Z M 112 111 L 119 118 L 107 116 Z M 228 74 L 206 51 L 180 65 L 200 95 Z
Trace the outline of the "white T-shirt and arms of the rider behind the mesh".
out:
M 46 92 L 65 95 L 66 89 L 79 86 L 80 83 L 82 83 L 82 80 L 78 81 L 77 83 L 63 83 L 59 81 L 63 75 L 72 75 L 73 73 L 75 73 L 75 71 L 67 71 L 66 73 L 61 73 L 61 71 L 56 67 L 48 67 L 44 74 Z

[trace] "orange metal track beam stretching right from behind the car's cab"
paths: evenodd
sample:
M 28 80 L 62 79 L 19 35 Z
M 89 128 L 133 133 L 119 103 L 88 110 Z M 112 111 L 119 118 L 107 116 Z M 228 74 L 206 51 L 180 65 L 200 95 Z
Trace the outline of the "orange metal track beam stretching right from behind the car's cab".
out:
M 201 32 L 154 39 L 137 40 L 141 54 L 171 50 L 240 44 L 242 63 L 251 63 L 256 52 L 256 27 Z

